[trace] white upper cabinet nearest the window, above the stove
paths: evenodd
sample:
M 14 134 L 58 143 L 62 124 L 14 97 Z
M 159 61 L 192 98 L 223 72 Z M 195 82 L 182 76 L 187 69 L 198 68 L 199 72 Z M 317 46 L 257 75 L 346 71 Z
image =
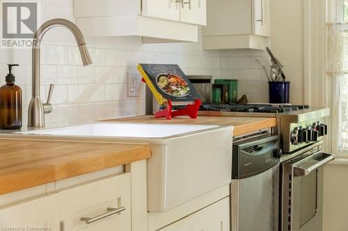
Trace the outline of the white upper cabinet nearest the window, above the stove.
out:
M 265 49 L 270 24 L 270 0 L 207 0 L 203 49 Z

